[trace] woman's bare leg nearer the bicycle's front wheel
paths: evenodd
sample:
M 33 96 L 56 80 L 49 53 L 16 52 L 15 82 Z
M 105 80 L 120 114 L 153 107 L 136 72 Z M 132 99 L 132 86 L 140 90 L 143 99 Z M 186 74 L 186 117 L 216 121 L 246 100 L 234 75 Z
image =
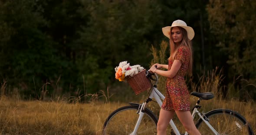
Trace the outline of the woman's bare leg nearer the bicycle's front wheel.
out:
M 170 120 L 174 116 L 174 111 L 160 110 L 158 119 L 158 135 L 166 135 L 166 129 Z

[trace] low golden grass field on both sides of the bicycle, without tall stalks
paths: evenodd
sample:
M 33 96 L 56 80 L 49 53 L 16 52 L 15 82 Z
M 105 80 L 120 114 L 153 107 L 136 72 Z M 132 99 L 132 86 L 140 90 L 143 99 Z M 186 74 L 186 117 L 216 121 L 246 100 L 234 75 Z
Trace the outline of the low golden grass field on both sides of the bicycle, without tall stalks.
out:
M 191 97 L 191 107 L 197 98 Z M 100 135 L 107 116 L 128 103 L 94 101 L 68 103 L 66 100 L 50 102 L 21 101 L 0 97 L 0 135 Z M 204 112 L 227 108 L 242 114 L 256 132 L 256 103 L 213 99 L 201 102 Z M 158 114 L 156 103 L 148 108 Z M 182 126 L 174 118 L 179 130 Z

